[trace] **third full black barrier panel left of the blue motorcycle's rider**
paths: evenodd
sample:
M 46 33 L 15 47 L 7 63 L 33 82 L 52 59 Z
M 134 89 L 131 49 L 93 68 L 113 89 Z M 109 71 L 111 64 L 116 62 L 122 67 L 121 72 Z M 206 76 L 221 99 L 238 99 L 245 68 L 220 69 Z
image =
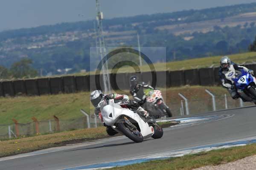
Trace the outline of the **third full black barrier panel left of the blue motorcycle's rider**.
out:
M 170 85 L 171 86 L 183 86 L 185 85 L 184 71 L 169 72 Z

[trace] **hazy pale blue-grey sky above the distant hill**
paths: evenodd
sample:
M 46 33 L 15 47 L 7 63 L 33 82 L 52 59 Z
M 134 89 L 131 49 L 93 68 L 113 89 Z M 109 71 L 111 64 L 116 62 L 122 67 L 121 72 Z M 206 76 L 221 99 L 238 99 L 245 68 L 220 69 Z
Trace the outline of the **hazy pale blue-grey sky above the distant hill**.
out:
M 252 2 L 255 0 L 100 0 L 106 18 Z M 0 31 L 91 20 L 95 9 L 95 0 L 0 0 Z

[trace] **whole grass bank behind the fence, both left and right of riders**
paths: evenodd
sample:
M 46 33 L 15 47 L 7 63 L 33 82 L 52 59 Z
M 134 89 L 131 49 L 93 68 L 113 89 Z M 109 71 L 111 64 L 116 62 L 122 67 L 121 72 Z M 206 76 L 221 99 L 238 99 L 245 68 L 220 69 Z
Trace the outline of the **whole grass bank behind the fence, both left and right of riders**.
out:
M 226 90 L 221 87 L 211 86 L 183 86 L 163 89 L 163 97 L 166 98 L 166 103 L 180 103 L 178 92 L 182 92 L 189 100 L 203 99 L 207 96 L 202 90 L 210 89 L 216 95 L 222 95 Z M 128 93 L 127 93 L 128 94 Z M 12 118 L 15 118 L 19 123 L 32 122 L 32 117 L 35 116 L 38 121 L 53 119 L 56 115 L 60 120 L 68 120 L 72 118 L 81 118 L 80 109 L 86 112 L 93 112 L 94 108 L 90 104 L 90 92 L 79 92 L 72 94 L 59 95 L 42 95 L 42 96 L 21 96 L 15 98 L 0 98 L 0 124 L 13 124 Z M 209 97 L 209 96 L 208 96 Z

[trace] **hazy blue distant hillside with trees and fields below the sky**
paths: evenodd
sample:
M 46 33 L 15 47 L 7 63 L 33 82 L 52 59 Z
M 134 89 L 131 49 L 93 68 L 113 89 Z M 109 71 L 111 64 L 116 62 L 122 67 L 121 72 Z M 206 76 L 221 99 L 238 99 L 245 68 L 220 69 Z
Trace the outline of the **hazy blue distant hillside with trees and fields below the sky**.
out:
M 167 61 L 247 51 L 256 35 L 256 3 L 202 10 L 138 15 L 103 22 L 107 46 L 166 46 Z M 61 23 L 0 32 L 0 62 L 9 67 L 29 57 L 45 70 L 93 70 L 90 47 L 95 46 L 94 21 Z M 159 61 L 159 56 L 153 62 Z

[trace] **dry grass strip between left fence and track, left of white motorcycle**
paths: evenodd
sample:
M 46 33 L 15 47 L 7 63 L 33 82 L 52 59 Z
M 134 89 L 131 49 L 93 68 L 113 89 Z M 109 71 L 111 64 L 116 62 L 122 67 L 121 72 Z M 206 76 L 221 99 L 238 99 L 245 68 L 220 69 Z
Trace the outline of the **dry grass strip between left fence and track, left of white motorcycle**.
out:
M 4 140 L 0 141 L 0 157 L 28 153 L 35 150 L 42 150 L 50 147 L 58 147 L 65 144 L 80 143 L 106 137 L 108 137 L 106 128 L 98 127 Z

